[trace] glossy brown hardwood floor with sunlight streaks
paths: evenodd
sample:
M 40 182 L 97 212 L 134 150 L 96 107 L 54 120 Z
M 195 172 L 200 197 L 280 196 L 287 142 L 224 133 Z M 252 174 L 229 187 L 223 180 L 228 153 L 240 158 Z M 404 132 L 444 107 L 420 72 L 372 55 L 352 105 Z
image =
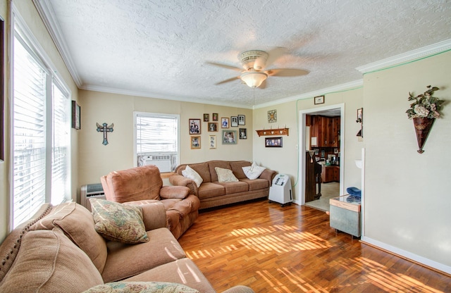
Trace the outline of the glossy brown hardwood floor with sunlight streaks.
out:
M 218 292 L 451 292 L 449 276 L 336 233 L 307 206 L 263 200 L 201 212 L 178 241 Z

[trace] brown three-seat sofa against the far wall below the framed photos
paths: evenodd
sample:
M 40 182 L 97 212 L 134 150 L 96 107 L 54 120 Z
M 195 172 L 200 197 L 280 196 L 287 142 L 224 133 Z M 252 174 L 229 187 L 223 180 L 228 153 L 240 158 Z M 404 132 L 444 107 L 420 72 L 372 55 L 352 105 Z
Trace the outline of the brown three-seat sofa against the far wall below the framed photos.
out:
M 182 171 L 190 166 L 202 177 L 202 184 L 197 187 L 194 180 L 184 177 Z M 207 161 L 204 163 L 183 164 L 175 168 L 175 175 L 169 177 L 169 182 L 175 186 L 190 188 L 190 193 L 200 199 L 199 209 L 234 204 L 250 199 L 268 197 L 276 171 L 266 169 L 254 180 L 246 177 L 242 167 L 249 167 L 248 161 Z M 218 182 L 215 168 L 224 168 L 233 171 L 238 182 Z

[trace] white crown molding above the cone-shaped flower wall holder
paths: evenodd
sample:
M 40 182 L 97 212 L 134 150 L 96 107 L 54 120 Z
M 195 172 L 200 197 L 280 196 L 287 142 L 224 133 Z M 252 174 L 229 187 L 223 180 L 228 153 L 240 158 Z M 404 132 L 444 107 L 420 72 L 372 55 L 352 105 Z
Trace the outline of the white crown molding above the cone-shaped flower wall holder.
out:
M 385 58 L 380 61 L 366 64 L 364 66 L 359 66 L 355 69 L 359 70 L 361 73 L 370 73 L 375 70 L 381 70 L 390 66 L 415 61 L 449 50 L 451 50 L 451 39 L 445 39 L 445 41 L 431 44 L 429 46 L 424 46 L 422 48 L 395 55 L 390 58 Z

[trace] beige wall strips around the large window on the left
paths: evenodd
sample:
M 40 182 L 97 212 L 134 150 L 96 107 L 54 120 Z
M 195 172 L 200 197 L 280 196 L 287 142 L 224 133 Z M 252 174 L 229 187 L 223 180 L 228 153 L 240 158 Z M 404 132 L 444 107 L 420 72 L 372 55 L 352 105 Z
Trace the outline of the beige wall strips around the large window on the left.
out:
M 7 8 L 7 1 L 1 1 L 0 6 L 0 14 L 6 20 L 6 32 L 7 35 L 9 35 L 8 31 L 8 23 L 11 20 L 11 17 L 8 12 Z M 56 46 L 54 46 L 54 42 L 51 40 L 51 37 L 49 33 L 47 32 L 47 29 L 44 26 L 44 23 L 42 23 L 41 18 L 39 17 L 39 14 L 36 11 L 35 6 L 33 5 L 32 1 L 13 1 L 13 4 L 16 6 L 18 12 L 22 16 L 22 18 L 27 23 L 27 26 L 31 30 L 32 34 L 34 35 L 35 39 L 39 42 L 39 44 L 42 46 L 44 51 L 46 51 L 47 56 L 51 60 L 51 63 L 54 64 L 56 67 L 56 70 L 58 71 L 58 75 L 66 82 L 66 85 L 68 85 L 69 90 L 72 92 L 71 99 L 77 100 L 78 99 L 78 88 L 73 82 L 72 77 L 70 76 L 70 73 L 68 72 L 66 65 L 63 62 L 63 59 L 61 58 L 61 55 L 58 53 Z M 10 44 L 8 43 L 8 38 L 5 40 L 6 43 L 6 52 L 8 46 Z M 10 56 L 6 56 L 6 61 L 10 61 Z M 5 65 L 6 70 L 6 95 L 5 95 L 5 104 L 4 104 L 4 113 L 5 113 L 5 161 L 4 163 L 0 163 L 0 183 L 1 183 L 1 199 L 0 199 L 0 241 L 6 237 L 8 230 L 9 230 L 9 206 L 11 198 L 11 192 L 10 192 L 10 185 L 9 185 L 9 170 L 11 168 L 11 156 L 9 154 L 10 148 L 9 144 L 11 143 L 10 133 L 9 129 L 11 127 L 9 123 L 9 116 L 8 113 L 11 111 L 10 106 L 10 92 L 9 92 L 9 83 L 11 82 L 11 77 L 9 76 L 9 64 Z M 71 172 L 70 172 L 70 178 L 71 178 L 71 191 L 73 194 L 73 199 L 75 199 L 76 194 L 76 188 L 78 183 L 78 151 L 77 151 L 77 145 L 78 145 L 78 132 L 76 130 L 71 130 L 71 151 L 72 151 L 72 160 L 71 160 Z

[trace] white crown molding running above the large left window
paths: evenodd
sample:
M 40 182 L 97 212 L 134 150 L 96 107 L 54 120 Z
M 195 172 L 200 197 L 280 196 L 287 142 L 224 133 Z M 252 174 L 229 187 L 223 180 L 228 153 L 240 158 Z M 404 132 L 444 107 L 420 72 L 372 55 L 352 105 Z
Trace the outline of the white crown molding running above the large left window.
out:
M 73 59 L 70 57 L 70 51 L 63 37 L 63 33 L 61 32 L 61 28 L 58 25 L 58 20 L 56 20 L 56 15 L 54 13 L 54 9 L 51 7 L 50 1 L 33 0 L 33 3 L 41 16 L 45 27 L 47 27 L 51 39 L 53 39 L 56 48 L 61 54 L 61 58 L 63 58 L 64 63 L 66 63 L 69 73 L 72 75 L 73 81 L 80 88 L 83 84 L 82 79 L 80 78 L 80 75 L 78 75 Z

